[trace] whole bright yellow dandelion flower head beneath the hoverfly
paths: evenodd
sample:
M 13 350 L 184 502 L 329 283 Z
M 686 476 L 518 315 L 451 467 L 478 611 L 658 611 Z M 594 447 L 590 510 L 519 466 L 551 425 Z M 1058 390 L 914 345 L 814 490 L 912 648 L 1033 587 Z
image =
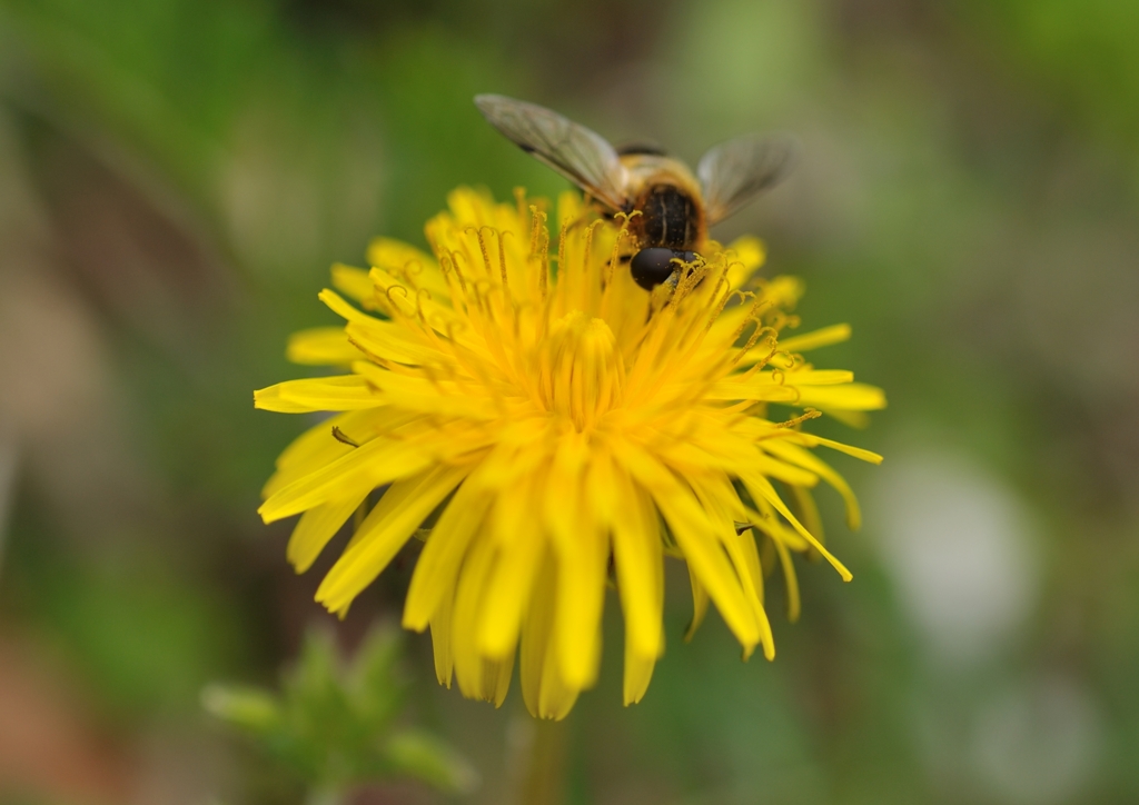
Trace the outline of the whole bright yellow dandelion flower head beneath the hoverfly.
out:
M 801 429 L 885 404 L 851 372 L 803 360 L 849 328 L 784 338 L 802 285 L 755 280 L 755 239 L 710 244 L 706 262 L 650 294 L 621 263 L 623 223 L 573 194 L 557 204 L 556 255 L 542 200 L 458 189 L 449 206 L 426 228 L 434 256 L 378 239 L 370 271 L 334 266 L 339 293 L 320 298 L 346 326 L 300 332 L 288 354 L 347 373 L 255 395 L 270 411 L 337 412 L 281 454 L 260 509 L 267 523 L 302 515 L 287 551 L 297 572 L 366 512 L 317 600 L 343 616 L 423 536 L 403 624 L 431 627 L 440 682 L 499 705 L 517 651 L 526 706 L 546 718 L 597 676 L 611 581 L 625 704 L 645 695 L 664 650 L 666 556 L 687 562 L 691 629 L 712 601 L 745 656 L 773 657 L 764 573 L 781 566 L 792 619 L 793 552 L 851 577 L 821 542 L 811 488 L 835 487 L 853 527 L 858 504 L 811 449 L 880 460 Z

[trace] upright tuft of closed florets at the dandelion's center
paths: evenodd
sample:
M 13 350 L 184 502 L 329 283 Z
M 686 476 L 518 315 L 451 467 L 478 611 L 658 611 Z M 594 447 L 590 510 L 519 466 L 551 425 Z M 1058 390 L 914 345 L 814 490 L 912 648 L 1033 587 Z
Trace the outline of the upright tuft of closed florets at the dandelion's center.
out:
M 554 322 L 541 348 L 540 389 L 548 411 L 585 430 L 621 404 L 625 367 L 605 321 L 573 311 Z

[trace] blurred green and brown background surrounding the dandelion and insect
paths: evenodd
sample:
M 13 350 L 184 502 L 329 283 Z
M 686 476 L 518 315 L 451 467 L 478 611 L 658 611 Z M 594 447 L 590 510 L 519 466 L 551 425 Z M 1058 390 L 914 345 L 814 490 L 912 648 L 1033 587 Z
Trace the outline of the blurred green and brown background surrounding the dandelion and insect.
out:
M 459 183 L 556 192 L 470 102 L 502 92 L 695 162 L 793 131 L 755 232 L 808 281 L 817 362 L 884 386 L 836 460 L 866 503 L 801 575 L 779 656 L 716 617 L 620 704 L 567 724 L 564 802 L 1139 802 L 1139 3 L 1129 0 L 0 1 L 0 802 L 287 803 L 213 722 L 218 680 L 274 687 L 312 624 L 350 651 L 328 557 L 285 564 L 255 508 L 304 422 L 251 392 L 368 239 L 421 243 Z M 814 425 L 814 424 L 812 424 Z M 334 547 L 335 548 L 335 547 Z M 333 555 L 335 550 L 326 553 Z M 440 689 L 408 635 L 407 717 L 509 803 L 531 725 Z

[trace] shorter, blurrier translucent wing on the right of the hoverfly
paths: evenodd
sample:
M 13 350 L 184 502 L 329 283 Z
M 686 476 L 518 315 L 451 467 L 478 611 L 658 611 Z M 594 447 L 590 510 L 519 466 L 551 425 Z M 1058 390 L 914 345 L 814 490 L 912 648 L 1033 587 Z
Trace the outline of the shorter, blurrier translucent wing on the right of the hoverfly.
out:
M 712 148 L 696 169 L 708 223 L 722 221 L 782 181 L 795 164 L 795 141 L 786 135 L 740 137 Z

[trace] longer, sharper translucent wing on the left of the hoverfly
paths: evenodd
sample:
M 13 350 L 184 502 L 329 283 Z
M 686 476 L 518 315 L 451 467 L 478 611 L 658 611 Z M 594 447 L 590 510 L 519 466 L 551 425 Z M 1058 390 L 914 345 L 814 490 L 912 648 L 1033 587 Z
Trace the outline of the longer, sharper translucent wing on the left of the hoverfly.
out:
M 625 206 L 625 169 L 605 138 L 556 112 L 500 95 L 475 96 L 495 129 L 585 192 L 612 207 Z

